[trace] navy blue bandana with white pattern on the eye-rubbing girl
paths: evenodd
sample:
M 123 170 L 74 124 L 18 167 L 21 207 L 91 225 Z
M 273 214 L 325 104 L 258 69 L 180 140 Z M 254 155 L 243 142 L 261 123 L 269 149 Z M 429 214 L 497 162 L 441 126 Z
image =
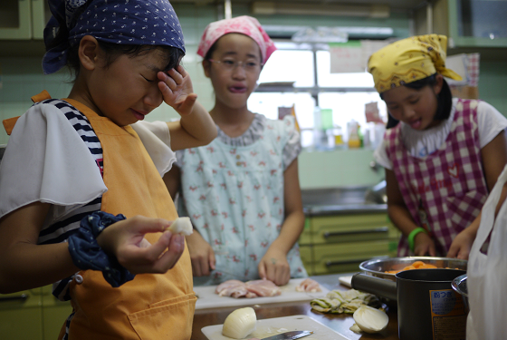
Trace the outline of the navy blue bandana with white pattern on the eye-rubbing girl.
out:
M 84 35 L 112 44 L 172 46 L 185 53 L 179 20 L 167 0 L 49 0 L 49 6 L 53 16 L 44 29 L 46 49 L 65 29 L 63 23 L 67 39 L 44 54 L 44 74 L 65 66 L 69 48 Z

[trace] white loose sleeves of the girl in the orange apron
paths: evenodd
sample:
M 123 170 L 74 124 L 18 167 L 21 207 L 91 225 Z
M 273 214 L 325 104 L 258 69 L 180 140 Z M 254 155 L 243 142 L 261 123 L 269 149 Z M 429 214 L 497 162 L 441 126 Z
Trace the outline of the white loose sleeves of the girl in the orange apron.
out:
M 163 176 L 176 160 L 167 123 L 138 121 L 132 128 Z M 43 201 L 60 207 L 52 220 L 59 219 L 107 191 L 90 150 L 53 104 L 33 105 L 14 132 L 0 163 L 0 218 Z

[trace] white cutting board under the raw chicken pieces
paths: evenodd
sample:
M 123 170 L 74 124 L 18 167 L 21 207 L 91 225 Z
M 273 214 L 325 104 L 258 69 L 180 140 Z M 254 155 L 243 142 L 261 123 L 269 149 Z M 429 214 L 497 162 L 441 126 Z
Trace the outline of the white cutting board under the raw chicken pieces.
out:
M 292 278 L 287 285 L 280 287 L 282 290 L 281 295 L 269 297 L 234 298 L 230 296 L 218 296 L 218 294 L 215 294 L 216 286 L 195 286 L 194 291 L 197 295 L 196 309 L 252 306 L 288 301 L 311 301 L 314 298 L 326 296 L 329 292 L 329 289 L 321 286 L 320 289 L 322 291 L 317 293 L 296 292 L 296 287 L 300 285 L 303 279 Z

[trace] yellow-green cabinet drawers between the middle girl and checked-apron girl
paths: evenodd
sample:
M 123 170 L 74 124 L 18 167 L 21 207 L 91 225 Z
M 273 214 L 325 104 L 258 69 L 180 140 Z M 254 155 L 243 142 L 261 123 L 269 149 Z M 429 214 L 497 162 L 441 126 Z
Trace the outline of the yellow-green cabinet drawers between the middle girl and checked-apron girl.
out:
M 307 216 L 301 259 L 309 275 L 355 272 L 372 257 L 396 257 L 399 237 L 384 211 Z

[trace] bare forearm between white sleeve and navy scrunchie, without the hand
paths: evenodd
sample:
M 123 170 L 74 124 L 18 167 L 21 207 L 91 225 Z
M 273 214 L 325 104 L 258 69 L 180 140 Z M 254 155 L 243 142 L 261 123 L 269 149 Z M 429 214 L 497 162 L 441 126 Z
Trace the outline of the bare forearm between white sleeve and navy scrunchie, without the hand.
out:
M 49 209 L 49 204 L 35 202 L 0 220 L 1 293 L 43 287 L 79 271 L 67 243 L 37 245 Z

